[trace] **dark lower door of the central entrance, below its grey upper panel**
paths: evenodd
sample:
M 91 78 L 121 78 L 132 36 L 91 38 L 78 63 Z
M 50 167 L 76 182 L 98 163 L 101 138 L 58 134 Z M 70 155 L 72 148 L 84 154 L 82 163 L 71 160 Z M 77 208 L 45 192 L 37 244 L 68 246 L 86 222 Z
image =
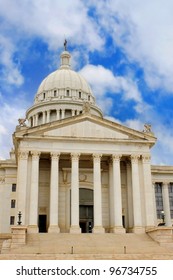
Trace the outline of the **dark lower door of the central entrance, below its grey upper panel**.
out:
M 80 228 L 82 233 L 92 233 L 93 228 L 93 205 L 80 205 L 79 207 Z

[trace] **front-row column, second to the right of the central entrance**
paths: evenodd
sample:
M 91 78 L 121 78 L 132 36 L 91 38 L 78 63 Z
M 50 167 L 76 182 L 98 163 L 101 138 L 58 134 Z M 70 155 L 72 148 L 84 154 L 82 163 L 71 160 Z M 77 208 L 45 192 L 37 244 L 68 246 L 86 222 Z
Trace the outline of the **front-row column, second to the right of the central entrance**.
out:
M 112 155 L 113 163 L 113 228 L 114 233 L 125 233 L 122 225 L 121 155 Z

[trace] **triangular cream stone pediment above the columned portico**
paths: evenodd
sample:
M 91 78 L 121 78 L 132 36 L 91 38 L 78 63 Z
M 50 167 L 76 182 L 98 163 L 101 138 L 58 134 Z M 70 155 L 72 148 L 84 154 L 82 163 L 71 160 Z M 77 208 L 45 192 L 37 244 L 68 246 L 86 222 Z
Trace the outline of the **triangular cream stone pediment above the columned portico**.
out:
M 39 127 L 29 128 L 27 136 L 44 138 L 79 138 L 79 139 L 112 139 L 112 140 L 142 140 L 156 141 L 153 135 L 148 135 L 118 123 L 93 115 L 79 115 Z

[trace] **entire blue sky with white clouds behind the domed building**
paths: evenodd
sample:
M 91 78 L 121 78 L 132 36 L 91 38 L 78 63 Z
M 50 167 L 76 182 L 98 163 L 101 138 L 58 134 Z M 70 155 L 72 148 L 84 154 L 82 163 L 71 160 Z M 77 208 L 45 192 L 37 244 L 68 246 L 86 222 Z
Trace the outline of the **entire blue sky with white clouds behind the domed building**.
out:
M 173 165 L 172 14 L 172 0 L 0 0 L 0 158 L 67 38 L 105 117 L 150 123 L 152 163 Z

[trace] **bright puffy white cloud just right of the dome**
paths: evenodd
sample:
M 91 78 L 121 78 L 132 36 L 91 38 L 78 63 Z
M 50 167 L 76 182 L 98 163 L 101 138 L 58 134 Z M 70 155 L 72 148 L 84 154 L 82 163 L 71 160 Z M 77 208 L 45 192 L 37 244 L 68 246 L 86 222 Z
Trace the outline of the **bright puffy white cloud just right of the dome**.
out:
M 114 94 L 121 94 L 124 101 L 134 100 L 137 104 L 142 102 L 137 84 L 130 77 L 114 76 L 111 70 L 102 65 L 91 64 L 84 66 L 79 73 L 91 85 L 97 103 L 105 114 L 111 111 Z

